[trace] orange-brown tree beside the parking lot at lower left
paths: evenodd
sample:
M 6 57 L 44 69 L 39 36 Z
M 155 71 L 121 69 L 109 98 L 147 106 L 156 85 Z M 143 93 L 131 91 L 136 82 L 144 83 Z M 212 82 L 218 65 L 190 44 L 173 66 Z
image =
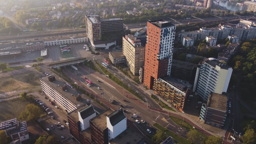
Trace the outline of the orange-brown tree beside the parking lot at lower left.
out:
M 21 120 L 30 121 L 40 116 L 41 113 L 42 110 L 38 106 L 34 104 L 28 104 L 25 110 L 21 111 L 19 118 Z

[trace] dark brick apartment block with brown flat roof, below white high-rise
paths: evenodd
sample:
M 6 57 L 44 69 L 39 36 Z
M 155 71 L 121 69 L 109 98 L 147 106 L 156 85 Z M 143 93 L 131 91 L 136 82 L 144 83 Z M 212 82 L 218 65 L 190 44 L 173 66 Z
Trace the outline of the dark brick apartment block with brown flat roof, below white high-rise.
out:
M 204 121 L 204 124 L 224 128 L 228 114 L 227 101 L 226 95 L 211 92 L 207 104 L 202 104 L 199 119 Z

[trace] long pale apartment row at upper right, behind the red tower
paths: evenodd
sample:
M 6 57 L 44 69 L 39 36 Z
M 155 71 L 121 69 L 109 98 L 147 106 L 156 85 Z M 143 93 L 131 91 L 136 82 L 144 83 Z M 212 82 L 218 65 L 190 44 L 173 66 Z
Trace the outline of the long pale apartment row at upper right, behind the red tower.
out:
M 252 26 L 246 27 L 228 27 L 221 25 L 216 28 L 200 28 L 200 30 L 185 32 L 181 31 L 177 41 L 182 43 L 183 37 L 193 37 L 194 39 L 205 39 L 206 36 L 215 36 L 217 39 L 225 39 L 229 35 L 236 35 L 241 41 L 256 38 L 256 28 Z

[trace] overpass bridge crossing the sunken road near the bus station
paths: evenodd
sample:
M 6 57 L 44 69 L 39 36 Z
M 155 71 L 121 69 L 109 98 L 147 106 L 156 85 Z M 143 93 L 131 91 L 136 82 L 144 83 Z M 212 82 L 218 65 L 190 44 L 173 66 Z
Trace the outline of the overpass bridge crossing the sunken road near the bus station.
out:
M 71 66 L 71 65 L 78 65 L 79 63 L 84 63 L 84 60 L 87 60 L 87 59 L 86 58 L 77 58 L 77 59 L 71 59 L 71 60 L 63 60 L 63 61 L 50 63 L 47 67 L 60 68 L 60 67 L 66 67 L 66 66 Z

